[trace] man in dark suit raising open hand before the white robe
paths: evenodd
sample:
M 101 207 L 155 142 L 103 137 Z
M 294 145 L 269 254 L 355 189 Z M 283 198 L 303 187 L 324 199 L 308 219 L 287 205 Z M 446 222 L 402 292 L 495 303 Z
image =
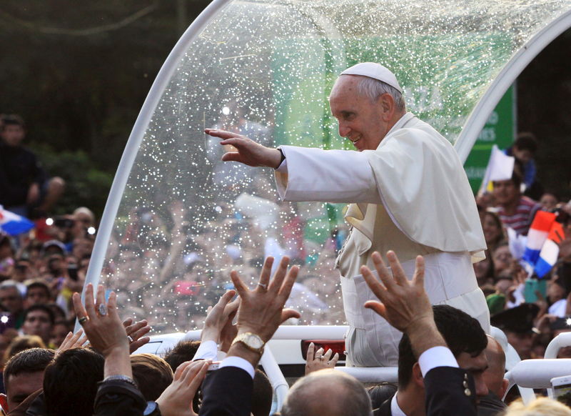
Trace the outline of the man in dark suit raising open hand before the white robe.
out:
M 378 272 L 361 272 L 380 299 L 365 307 L 383 316 L 403 332 L 399 345 L 398 392 L 375 415 L 476 415 L 476 394 L 487 394 L 482 373 L 487 367 L 485 332 L 477 320 L 448 305 L 430 306 L 423 288 L 424 261 L 416 259 L 409 281 L 394 252 L 388 252 L 389 270 L 378 253 Z

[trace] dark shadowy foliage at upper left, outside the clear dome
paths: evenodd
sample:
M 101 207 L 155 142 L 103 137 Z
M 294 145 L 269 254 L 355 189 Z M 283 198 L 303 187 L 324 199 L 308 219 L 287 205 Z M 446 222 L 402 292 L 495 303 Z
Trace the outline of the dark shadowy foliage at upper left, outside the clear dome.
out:
M 26 120 L 58 212 L 98 216 L 153 79 L 209 0 L 4 0 L 0 114 Z

